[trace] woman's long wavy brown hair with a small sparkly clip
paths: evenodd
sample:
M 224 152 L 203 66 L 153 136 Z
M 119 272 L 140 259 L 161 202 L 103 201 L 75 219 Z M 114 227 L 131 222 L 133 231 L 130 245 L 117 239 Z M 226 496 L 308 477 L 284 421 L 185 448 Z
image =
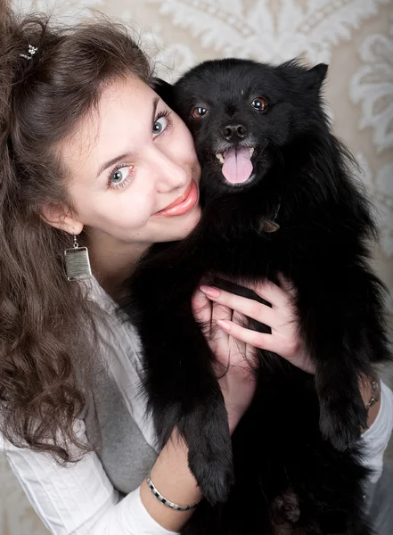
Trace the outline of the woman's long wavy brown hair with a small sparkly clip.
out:
M 37 52 L 21 57 L 29 45 Z M 0 0 L 0 432 L 61 462 L 76 460 L 66 443 L 91 449 L 72 426 L 92 383 L 94 310 L 84 284 L 64 274 L 70 235 L 39 214 L 71 207 L 56 146 L 103 86 L 129 74 L 151 82 L 125 25 L 103 15 L 56 25 Z

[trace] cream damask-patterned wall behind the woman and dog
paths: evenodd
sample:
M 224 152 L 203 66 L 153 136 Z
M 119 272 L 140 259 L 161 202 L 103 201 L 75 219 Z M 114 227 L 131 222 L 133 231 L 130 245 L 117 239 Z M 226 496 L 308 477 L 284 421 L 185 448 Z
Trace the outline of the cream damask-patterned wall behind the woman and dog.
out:
M 96 9 L 130 22 L 157 73 L 174 80 L 205 59 L 330 66 L 325 95 L 334 129 L 360 162 L 379 213 L 376 263 L 393 311 L 393 0 L 19 0 L 77 21 Z M 0 456 L 0 533 L 47 533 Z

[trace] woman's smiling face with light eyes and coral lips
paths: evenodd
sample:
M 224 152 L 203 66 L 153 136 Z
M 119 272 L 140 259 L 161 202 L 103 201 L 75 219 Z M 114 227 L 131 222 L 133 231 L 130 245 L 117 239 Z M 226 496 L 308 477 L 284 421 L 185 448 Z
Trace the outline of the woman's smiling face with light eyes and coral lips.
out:
M 192 136 L 149 86 L 131 76 L 113 82 L 98 112 L 79 126 L 61 155 L 75 216 L 89 238 L 151 244 L 192 230 L 201 216 Z

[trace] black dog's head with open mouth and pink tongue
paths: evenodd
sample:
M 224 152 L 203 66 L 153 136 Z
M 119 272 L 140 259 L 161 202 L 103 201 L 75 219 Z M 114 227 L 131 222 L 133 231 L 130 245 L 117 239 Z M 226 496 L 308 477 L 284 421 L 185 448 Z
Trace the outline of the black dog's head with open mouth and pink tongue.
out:
M 323 120 L 320 88 L 327 65 L 250 60 L 203 62 L 174 86 L 155 90 L 192 131 L 204 171 L 225 189 L 259 182 L 312 121 Z

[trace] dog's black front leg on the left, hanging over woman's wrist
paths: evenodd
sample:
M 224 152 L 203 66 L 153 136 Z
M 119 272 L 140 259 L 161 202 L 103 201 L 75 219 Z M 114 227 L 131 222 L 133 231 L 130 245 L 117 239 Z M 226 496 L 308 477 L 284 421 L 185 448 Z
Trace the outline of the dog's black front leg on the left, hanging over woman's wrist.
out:
M 122 309 L 142 342 L 146 403 L 160 446 L 177 429 L 203 496 L 215 504 L 233 482 L 232 442 L 214 355 L 192 314 L 201 271 L 189 254 L 153 251 L 128 281 Z

